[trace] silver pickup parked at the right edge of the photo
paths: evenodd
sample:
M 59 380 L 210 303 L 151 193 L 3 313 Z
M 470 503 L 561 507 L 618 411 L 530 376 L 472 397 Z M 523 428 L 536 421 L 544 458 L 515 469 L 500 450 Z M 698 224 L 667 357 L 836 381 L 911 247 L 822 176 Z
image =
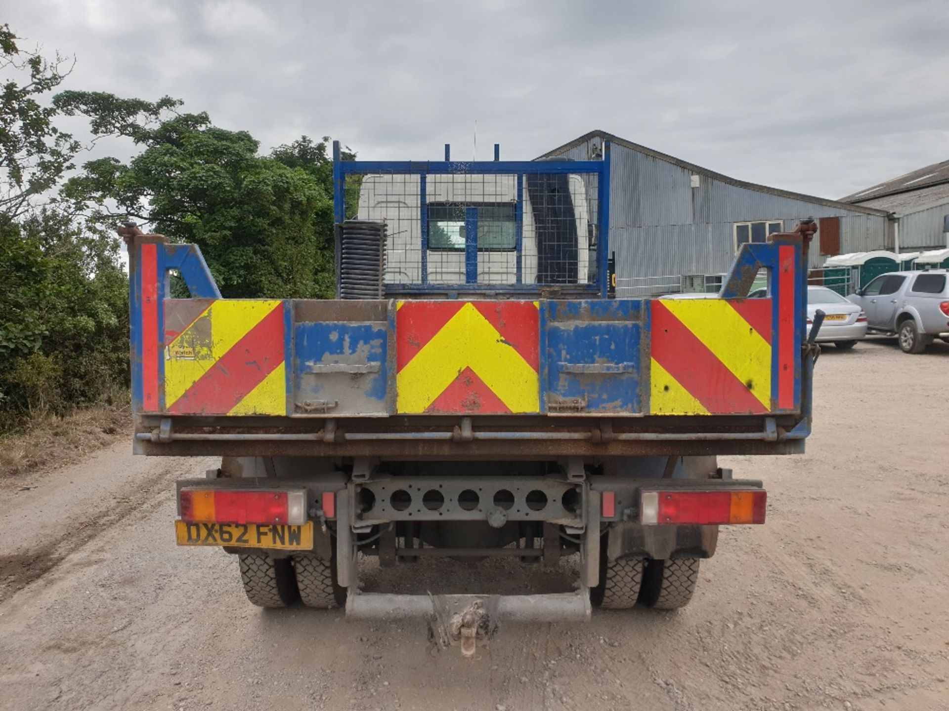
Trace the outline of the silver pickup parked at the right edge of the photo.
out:
M 949 343 L 949 270 L 883 274 L 847 299 L 870 331 L 896 334 L 903 353 L 922 353 L 936 337 Z

